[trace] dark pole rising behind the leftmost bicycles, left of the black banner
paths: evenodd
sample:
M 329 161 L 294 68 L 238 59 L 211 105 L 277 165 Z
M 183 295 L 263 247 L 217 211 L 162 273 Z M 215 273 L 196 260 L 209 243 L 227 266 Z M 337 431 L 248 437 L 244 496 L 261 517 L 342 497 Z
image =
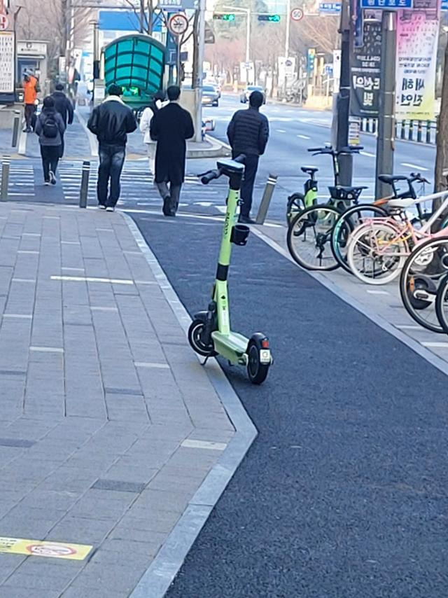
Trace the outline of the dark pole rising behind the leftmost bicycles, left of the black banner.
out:
M 341 22 L 341 76 L 339 94 L 337 95 L 337 143 L 340 151 L 349 145 L 349 113 L 350 113 L 350 1 L 342 0 Z M 339 156 L 339 180 L 341 185 L 351 185 L 353 176 L 353 156 Z

